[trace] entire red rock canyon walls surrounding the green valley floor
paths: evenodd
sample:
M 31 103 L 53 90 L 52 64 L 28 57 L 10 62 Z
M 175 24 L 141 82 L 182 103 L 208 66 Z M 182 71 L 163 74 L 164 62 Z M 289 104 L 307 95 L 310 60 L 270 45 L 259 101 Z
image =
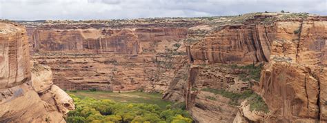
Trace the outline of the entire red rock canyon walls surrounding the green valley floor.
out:
M 0 106 L 32 96 L 42 110 L 32 117 L 63 119 L 74 106 L 61 89 L 95 88 L 162 93 L 196 122 L 327 122 L 324 16 L 17 23 L 0 25 L 1 68 L 10 70 L 1 71 Z M 0 121 L 34 114 L 6 110 Z

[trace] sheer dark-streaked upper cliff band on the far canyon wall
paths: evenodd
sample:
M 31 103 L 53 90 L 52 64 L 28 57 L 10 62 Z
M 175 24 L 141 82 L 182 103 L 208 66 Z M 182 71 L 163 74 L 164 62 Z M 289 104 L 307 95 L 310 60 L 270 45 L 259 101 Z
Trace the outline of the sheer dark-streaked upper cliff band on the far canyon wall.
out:
M 186 28 L 30 29 L 34 51 L 139 54 L 155 41 L 186 38 Z M 147 49 L 147 50 L 154 50 Z M 160 49 L 157 49 L 160 50 Z M 162 49 L 161 49 L 162 50 Z

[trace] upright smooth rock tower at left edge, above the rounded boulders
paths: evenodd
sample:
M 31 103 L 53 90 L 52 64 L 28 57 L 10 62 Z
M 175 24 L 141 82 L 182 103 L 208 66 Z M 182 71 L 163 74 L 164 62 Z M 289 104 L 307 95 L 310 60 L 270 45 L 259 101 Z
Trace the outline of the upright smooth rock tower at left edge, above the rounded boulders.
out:
M 0 89 L 30 81 L 30 56 L 24 28 L 1 23 Z

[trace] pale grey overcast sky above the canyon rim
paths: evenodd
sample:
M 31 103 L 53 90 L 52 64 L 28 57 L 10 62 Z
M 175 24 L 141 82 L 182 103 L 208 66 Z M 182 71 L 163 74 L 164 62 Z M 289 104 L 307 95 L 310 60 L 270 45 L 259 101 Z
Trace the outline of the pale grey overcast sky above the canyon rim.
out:
M 0 19 L 205 17 L 270 11 L 327 15 L 327 0 L 0 0 Z

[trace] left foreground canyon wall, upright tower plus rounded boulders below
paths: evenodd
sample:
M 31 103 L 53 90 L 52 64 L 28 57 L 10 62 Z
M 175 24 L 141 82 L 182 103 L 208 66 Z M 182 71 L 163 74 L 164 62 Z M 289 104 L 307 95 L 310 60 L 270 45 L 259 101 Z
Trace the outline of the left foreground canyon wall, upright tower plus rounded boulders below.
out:
M 0 23 L 0 40 L 0 122 L 65 122 L 63 114 L 74 108 L 72 99 L 52 86 L 51 73 L 43 73 L 49 68 L 32 68 L 31 73 L 25 27 Z M 54 100 L 59 96 L 66 99 Z

